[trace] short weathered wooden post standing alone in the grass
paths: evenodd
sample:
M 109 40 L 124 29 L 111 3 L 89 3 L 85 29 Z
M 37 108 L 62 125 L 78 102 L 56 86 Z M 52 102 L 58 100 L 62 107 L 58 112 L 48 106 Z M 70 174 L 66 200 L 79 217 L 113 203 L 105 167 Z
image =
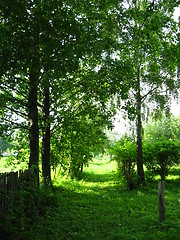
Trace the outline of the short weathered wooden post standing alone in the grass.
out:
M 159 221 L 165 220 L 165 181 L 161 180 L 158 182 L 158 199 L 159 199 Z

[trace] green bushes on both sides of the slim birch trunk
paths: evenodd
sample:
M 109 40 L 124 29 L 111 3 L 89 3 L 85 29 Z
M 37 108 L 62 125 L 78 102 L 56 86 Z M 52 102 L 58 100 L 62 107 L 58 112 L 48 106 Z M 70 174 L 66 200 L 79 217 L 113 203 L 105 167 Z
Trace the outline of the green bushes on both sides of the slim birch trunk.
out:
M 153 177 L 157 174 L 161 179 L 168 176 L 169 169 L 179 163 L 179 118 L 163 117 L 151 121 L 144 128 L 143 161 L 146 175 Z M 121 163 L 121 171 L 127 176 L 127 167 L 122 164 L 131 160 L 132 169 L 136 161 L 136 143 L 124 135 L 116 142 L 111 150 L 114 160 Z M 126 177 L 127 178 L 127 177 Z

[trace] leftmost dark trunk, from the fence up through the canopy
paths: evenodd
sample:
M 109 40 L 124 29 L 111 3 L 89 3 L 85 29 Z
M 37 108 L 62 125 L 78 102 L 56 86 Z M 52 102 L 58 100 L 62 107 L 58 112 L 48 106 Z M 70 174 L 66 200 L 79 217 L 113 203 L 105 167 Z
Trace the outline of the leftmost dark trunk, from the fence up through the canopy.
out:
M 29 139 L 30 157 L 29 168 L 34 172 L 35 180 L 39 184 L 39 125 L 38 125 L 38 81 L 40 71 L 39 58 L 39 22 L 34 13 L 34 25 L 31 32 L 31 61 L 29 62 L 29 97 L 28 97 L 28 116 L 29 116 Z

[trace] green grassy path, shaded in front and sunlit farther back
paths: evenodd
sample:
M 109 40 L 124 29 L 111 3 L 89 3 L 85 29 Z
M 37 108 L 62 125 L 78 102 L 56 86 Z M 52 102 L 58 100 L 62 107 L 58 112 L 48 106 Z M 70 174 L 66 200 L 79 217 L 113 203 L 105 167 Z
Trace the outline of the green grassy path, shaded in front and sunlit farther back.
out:
M 33 239 L 178 239 L 179 180 L 166 188 L 166 218 L 158 222 L 157 183 L 128 192 L 117 181 L 116 164 L 95 160 L 81 181 L 58 180 L 58 206 L 34 227 Z

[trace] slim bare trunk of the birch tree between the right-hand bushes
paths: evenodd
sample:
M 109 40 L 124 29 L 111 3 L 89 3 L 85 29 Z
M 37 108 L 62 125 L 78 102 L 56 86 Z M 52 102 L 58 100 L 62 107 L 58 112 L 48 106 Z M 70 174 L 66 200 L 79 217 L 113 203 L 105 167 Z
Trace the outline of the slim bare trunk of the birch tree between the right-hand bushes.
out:
M 137 173 L 138 183 L 144 184 L 144 169 L 143 169 L 143 157 L 142 157 L 142 120 L 141 120 L 141 86 L 140 86 L 140 69 L 138 70 L 137 77 Z

